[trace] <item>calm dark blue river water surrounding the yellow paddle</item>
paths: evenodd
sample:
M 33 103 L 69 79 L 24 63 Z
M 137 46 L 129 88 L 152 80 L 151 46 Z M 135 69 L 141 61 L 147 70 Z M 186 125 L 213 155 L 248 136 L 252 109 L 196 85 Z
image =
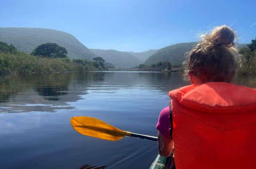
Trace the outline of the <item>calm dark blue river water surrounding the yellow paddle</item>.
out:
M 235 83 L 256 88 L 255 77 Z M 78 169 L 89 165 L 146 169 L 156 142 L 117 142 L 77 133 L 73 116 L 92 116 L 120 129 L 156 136 L 168 91 L 188 85 L 179 72 L 84 72 L 0 77 L 0 168 Z

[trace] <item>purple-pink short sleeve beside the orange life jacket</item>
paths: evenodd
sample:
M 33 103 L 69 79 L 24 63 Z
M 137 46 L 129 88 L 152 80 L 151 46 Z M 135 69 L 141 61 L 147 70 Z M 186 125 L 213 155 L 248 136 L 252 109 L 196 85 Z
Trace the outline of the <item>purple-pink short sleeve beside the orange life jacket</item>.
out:
M 171 121 L 170 121 L 170 109 L 169 106 L 165 107 L 159 114 L 159 118 L 156 124 L 156 129 L 165 138 L 171 138 Z

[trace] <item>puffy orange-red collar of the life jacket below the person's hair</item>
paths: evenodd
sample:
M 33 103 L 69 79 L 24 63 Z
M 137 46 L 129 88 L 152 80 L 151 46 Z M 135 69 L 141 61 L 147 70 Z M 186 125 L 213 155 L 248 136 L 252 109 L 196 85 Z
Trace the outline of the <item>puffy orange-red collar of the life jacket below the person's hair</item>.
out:
M 181 105 L 209 113 L 256 110 L 256 89 L 225 82 L 188 85 L 169 92 Z

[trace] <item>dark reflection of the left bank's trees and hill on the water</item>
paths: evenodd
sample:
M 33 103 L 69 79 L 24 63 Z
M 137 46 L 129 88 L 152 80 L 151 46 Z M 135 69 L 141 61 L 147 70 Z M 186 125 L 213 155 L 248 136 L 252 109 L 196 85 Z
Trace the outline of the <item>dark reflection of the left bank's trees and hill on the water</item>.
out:
M 89 77 L 89 79 L 88 79 Z M 1 76 L 0 112 L 55 112 L 73 109 L 92 77 L 85 73 L 12 74 Z

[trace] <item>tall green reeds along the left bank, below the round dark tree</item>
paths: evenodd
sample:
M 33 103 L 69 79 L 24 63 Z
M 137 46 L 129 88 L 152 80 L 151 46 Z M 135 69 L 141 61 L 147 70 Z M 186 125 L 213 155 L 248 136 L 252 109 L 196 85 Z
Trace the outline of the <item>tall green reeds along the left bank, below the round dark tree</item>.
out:
M 104 70 L 95 61 L 69 58 L 42 58 L 25 52 L 0 53 L 0 74 L 82 72 Z

